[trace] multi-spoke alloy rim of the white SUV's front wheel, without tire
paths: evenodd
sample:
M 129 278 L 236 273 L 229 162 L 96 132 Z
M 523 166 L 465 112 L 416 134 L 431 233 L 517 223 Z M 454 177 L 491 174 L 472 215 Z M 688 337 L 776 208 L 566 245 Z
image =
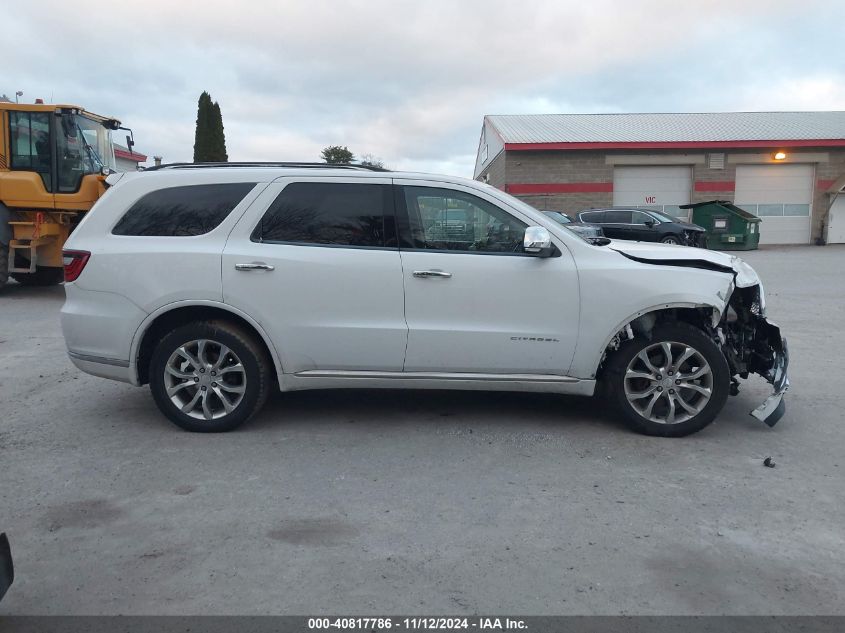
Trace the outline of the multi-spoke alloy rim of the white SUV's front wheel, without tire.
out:
M 649 345 L 625 370 L 625 397 L 651 422 L 686 422 L 704 410 L 712 395 L 713 370 L 686 343 Z

